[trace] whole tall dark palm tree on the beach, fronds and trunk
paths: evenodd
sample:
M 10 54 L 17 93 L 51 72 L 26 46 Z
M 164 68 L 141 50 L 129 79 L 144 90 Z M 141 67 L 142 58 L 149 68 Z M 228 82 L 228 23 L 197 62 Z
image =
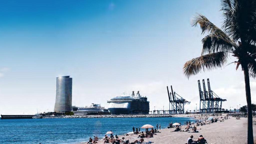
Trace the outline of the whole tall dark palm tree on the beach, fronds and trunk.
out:
M 237 58 L 236 69 L 241 66 L 244 73 L 246 100 L 248 105 L 248 143 L 253 143 L 252 106 L 250 77 L 256 77 L 256 0 L 222 0 L 223 25 L 218 28 L 204 15 L 192 19 L 192 26 L 200 25 L 205 36 L 201 56 L 185 63 L 183 72 L 187 77 L 200 71 L 221 68 L 229 56 Z

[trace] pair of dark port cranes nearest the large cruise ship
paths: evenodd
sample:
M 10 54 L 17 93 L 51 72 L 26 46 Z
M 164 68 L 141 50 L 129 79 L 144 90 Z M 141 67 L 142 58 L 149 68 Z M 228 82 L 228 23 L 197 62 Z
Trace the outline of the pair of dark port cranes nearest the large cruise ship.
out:
M 169 105 L 172 106 L 172 110 L 169 108 L 169 114 L 184 114 L 184 105 L 190 104 L 190 101 L 185 100 L 179 96 L 176 92 L 173 92 L 173 87 L 171 86 L 171 92 L 169 92 L 167 86 Z

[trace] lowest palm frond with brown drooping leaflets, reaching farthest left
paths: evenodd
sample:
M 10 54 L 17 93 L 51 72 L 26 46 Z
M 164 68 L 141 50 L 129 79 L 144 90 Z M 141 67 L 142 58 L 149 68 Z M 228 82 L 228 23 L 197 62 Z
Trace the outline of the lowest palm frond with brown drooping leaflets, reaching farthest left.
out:
M 189 78 L 200 71 L 220 68 L 227 63 L 227 53 L 217 52 L 203 55 L 187 61 L 183 67 L 183 73 Z

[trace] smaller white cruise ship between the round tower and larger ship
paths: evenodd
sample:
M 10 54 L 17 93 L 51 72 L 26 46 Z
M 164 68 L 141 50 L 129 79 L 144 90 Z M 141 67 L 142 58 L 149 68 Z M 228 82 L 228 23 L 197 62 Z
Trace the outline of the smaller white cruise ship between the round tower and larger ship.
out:
M 73 111 L 74 115 L 107 115 L 110 114 L 108 109 L 101 107 L 100 104 L 91 104 L 89 107 L 79 107 Z

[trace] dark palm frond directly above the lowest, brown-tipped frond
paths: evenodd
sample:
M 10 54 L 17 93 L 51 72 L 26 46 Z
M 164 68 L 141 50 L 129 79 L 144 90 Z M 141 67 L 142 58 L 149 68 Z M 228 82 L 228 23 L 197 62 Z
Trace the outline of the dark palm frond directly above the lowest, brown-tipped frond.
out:
M 236 43 L 229 36 L 210 34 L 201 40 L 203 44 L 202 54 L 215 52 L 232 52 Z

